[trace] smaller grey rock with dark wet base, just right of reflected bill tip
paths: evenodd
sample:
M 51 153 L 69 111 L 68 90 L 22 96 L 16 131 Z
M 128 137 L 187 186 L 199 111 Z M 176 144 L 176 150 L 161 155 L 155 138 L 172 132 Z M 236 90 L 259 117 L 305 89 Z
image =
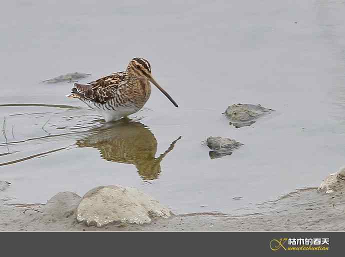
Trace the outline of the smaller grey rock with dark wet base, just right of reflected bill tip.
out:
M 211 149 L 209 151 L 209 157 L 211 159 L 220 158 L 226 155 L 231 155 L 232 151 L 239 146 L 243 145 L 242 143 L 236 141 L 235 139 L 226 138 L 226 137 L 213 137 L 209 136 L 206 139 L 207 146 Z

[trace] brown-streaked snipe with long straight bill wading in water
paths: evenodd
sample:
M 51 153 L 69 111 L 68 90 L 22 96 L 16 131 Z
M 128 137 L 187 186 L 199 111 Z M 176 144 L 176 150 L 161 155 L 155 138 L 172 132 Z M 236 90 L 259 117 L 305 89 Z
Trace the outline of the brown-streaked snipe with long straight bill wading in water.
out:
M 151 94 L 150 82 L 178 107 L 153 79 L 149 62 L 139 57 L 131 59 L 125 71 L 112 73 L 87 84 L 74 83 L 71 93 L 66 96 L 80 99 L 97 110 L 105 121 L 110 121 L 141 109 Z

